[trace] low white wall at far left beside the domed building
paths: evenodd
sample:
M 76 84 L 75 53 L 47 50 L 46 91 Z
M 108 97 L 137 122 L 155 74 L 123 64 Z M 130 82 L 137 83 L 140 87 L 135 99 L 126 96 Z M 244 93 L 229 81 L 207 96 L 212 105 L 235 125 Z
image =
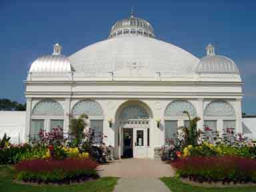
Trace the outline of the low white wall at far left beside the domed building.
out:
M 26 111 L 0 111 L 0 137 L 6 133 L 11 143 L 23 143 Z

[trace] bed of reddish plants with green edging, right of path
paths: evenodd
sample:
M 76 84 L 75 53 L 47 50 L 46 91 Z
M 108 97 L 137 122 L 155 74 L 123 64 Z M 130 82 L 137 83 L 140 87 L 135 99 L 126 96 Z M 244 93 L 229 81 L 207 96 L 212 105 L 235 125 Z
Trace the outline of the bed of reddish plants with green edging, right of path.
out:
M 256 161 L 243 157 L 185 157 L 172 162 L 178 177 L 193 181 L 256 183 Z

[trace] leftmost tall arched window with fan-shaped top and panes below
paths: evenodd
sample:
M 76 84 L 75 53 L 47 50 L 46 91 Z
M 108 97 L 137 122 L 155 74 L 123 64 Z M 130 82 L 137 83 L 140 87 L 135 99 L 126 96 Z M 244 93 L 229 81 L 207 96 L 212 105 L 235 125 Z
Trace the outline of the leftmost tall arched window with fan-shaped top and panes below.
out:
M 63 129 L 64 111 L 61 104 L 53 99 L 43 99 L 33 107 L 29 134 L 38 139 L 41 129 L 51 131 L 53 128 Z

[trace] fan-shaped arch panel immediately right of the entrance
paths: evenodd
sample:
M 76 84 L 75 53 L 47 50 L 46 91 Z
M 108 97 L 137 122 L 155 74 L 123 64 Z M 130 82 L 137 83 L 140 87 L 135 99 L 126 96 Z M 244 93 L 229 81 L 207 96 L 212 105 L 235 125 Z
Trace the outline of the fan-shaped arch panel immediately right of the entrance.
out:
M 195 107 L 188 101 L 177 100 L 171 102 L 165 109 L 165 118 L 187 117 L 183 111 L 188 111 L 191 117 L 197 116 Z

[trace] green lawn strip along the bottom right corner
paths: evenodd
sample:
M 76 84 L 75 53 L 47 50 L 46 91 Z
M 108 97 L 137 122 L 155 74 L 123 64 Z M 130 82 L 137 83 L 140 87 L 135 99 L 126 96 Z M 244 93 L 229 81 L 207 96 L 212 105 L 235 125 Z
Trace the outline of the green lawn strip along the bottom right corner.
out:
M 162 177 L 160 179 L 165 183 L 172 192 L 255 192 L 256 187 L 197 187 L 182 183 L 178 179 L 174 179 L 172 177 Z

